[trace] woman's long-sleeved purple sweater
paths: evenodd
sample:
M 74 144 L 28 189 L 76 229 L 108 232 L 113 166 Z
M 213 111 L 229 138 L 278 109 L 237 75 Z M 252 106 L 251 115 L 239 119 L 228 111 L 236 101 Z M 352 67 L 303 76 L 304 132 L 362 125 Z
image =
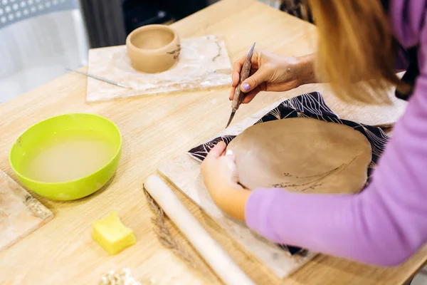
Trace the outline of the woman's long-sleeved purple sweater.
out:
M 273 242 L 383 266 L 400 264 L 427 242 L 427 0 L 389 3 L 395 38 L 404 48 L 418 46 L 420 74 L 406 113 L 363 192 L 253 190 L 246 223 Z

